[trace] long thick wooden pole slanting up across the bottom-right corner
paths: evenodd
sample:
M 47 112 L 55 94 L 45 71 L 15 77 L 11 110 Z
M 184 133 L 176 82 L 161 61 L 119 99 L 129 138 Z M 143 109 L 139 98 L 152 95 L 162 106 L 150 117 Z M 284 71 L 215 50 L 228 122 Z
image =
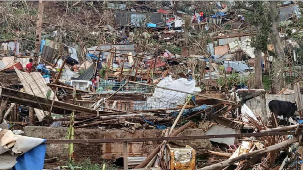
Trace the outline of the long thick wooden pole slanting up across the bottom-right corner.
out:
M 298 142 L 298 138 L 288 139 L 288 140 L 285 140 L 285 141 L 283 141 L 281 143 L 278 143 L 278 144 L 275 144 L 275 145 L 271 145 L 271 146 L 268 146 L 266 148 L 258 149 L 258 150 L 252 151 L 252 152 L 248 152 L 246 154 L 240 155 L 240 156 L 235 157 L 233 159 L 227 159 L 225 161 L 222 161 L 222 162 L 210 165 L 210 166 L 206 166 L 204 168 L 200 168 L 200 169 L 197 169 L 197 170 L 216 170 L 216 169 L 222 169 L 222 168 L 225 168 L 226 166 L 229 166 L 229 165 L 232 165 L 234 163 L 240 162 L 240 161 L 245 160 L 247 158 L 250 158 L 252 156 L 262 155 L 262 154 L 264 154 L 266 152 L 271 152 L 271 151 L 283 148 L 283 147 L 285 147 L 287 145 L 290 145 L 292 143 L 295 143 L 295 142 Z

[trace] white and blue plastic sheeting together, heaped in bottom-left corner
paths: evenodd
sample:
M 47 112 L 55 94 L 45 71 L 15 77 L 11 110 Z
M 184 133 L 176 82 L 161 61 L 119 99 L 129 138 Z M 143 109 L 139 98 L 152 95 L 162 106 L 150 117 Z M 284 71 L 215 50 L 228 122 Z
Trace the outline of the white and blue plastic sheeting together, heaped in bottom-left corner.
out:
M 42 170 L 46 151 L 45 139 L 15 135 L 7 123 L 0 125 L 0 169 Z

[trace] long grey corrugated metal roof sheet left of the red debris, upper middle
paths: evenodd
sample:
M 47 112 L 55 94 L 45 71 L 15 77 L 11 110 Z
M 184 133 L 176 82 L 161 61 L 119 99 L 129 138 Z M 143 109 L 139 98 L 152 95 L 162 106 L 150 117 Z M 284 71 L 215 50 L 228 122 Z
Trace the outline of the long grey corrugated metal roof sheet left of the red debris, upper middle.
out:
M 128 54 L 129 52 L 132 52 L 132 55 L 135 55 L 135 44 L 103 44 L 99 45 L 101 50 L 110 50 L 113 47 L 116 47 L 117 53 L 123 53 L 123 54 Z M 94 50 L 96 50 L 98 46 L 90 47 L 87 49 L 87 51 L 90 54 L 94 54 Z M 99 49 L 99 48 L 98 48 Z M 91 51 L 92 50 L 92 51 Z M 96 51 L 96 53 L 99 55 L 99 51 Z M 105 56 L 110 56 L 109 52 L 105 52 Z

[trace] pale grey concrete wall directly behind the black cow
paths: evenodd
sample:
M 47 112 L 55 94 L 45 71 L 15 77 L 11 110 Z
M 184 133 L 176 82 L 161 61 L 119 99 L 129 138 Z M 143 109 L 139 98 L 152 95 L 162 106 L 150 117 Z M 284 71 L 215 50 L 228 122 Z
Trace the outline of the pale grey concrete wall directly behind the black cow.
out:
M 270 110 L 268 108 L 268 103 L 271 100 L 283 100 L 283 101 L 289 101 L 292 103 L 295 103 L 295 94 L 287 94 L 287 95 L 275 95 L 275 94 L 265 94 L 265 100 L 266 100 L 266 112 L 267 117 L 270 116 Z M 261 96 L 257 96 L 251 100 L 247 100 L 245 103 L 251 111 L 256 116 L 261 116 Z

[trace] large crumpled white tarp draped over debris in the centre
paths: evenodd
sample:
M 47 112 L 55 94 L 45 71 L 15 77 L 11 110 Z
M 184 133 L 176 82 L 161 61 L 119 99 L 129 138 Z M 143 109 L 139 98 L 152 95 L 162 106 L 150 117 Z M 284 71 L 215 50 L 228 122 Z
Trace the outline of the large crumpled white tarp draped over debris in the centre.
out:
M 165 77 L 157 86 L 193 93 L 195 85 L 195 80 L 187 80 L 185 78 L 172 80 L 170 77 Z M 177 108 L 178 105 L 183 105 L 185 103 L 186 96 L 186 93 L 155 88 L 154 94 L 151 97 L 148 97 L 146 103 L 147 107 L 152 108 L 152 110 Z

